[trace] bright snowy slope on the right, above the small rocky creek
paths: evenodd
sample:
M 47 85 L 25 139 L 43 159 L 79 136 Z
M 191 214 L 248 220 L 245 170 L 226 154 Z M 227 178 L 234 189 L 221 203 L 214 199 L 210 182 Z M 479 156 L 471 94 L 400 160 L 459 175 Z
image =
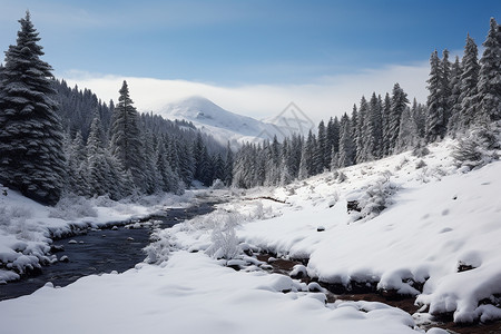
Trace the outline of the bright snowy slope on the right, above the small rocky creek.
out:
M 501 163 L 462 174 L 451 145 L 433 145 L 423 158 L 407 153 L 345 168 L 342 183 L 325 174 L 278 189 L 274 196 L 293 207 L 244 224 L 237 235 L 310 258 L 310 276 L 326 283 L 377 283 L 381 291 L 416 295 L 432 314 L 453 312 L 455 322 L 499 320 L 499 308 L 482 304 L 499 304 L 501 294 Z M 396 189 L 384 195 L 387 207 L 379 215 L 347 213 L 347 202 L 366 202 L 382 177 Z

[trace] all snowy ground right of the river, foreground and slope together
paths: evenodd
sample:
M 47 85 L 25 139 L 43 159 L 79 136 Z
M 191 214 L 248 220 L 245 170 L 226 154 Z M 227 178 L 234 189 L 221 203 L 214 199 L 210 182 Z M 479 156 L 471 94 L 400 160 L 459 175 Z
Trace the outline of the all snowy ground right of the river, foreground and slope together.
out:
M 230 190 L 235 199 L 216 212 L 157 230 L 149 264 L 0 302 L 2 332 L 423 333 L 416 325 L 429 314 L 499 320 L 501 161 L 464 173 L 452 145 L 284 188 Z M 361 212 L 348 213 L 348 202 Z M 326 304 L 306 284 L 268 274 L 248 248 L 308 258 L 308 275 L 322 282 L 415 295 L 422 313 Z

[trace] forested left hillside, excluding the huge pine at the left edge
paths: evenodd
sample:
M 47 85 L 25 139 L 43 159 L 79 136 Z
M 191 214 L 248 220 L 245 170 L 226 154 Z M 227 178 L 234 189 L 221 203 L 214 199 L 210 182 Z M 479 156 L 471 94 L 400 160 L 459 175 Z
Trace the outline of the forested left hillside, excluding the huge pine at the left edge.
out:
M 65 126 L 66 185 L 80 196 L 181 193 L 227 177 L 226 148 L 186 121 L 139 115 L 127 82 L 109 107 L 89 90 L 57 82 Z

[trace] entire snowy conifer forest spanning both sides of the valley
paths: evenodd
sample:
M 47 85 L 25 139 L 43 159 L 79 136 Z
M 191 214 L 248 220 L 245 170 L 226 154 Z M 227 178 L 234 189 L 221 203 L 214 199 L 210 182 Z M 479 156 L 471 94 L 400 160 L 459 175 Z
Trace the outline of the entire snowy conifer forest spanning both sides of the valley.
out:
M 501 119 L 501 29 L 493 18 L 480 59 L 470 36 L 461 59 L 451 62 L 446 49 L 431 53 L 425 104 L 410 104 L 395 84 L 391 94 L 363 96 L 350 114 L 321 121 L 306 138 L 248 143 L 236 153 L 193 124 L 139 114 L 126 81 L 118 101 L 106 104 L 56 80 L 30 13 L 19 22 L 0 67 L 0 183 L 48 205 L 67 194 L 179 194 L 194 181 L 285 185 L 409 149 L 425 154 L 426 144 L 483 129 L 474 145 L 464 144 L 466 159 L 492 145 L 491 127 Z

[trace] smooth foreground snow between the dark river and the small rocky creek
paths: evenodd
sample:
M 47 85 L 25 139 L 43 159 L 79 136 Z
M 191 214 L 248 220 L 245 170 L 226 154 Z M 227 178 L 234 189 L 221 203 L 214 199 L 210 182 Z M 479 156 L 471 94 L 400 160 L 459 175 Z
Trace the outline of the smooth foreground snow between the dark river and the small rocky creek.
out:
M 380 303 L 325 305 L 317 295 L 281 293 L 291 278 L 222 267 L 176 252 L 163 266 L 84 277 L 0 303 L 2 331 L 37 333 L 416 333 L 411 316 Z M 27 322 L 26 320 L 30 321 Z

